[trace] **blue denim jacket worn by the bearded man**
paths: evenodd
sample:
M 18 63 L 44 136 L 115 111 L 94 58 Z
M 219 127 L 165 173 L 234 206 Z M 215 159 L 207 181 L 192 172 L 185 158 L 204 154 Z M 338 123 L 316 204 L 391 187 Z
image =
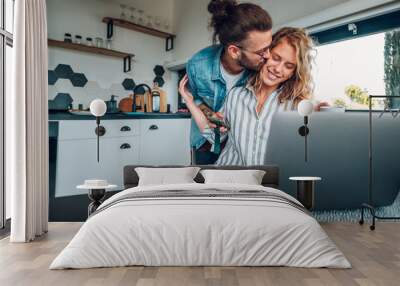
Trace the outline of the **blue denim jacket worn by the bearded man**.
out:
M 221 109 L 225 96 L 226 83 L 221 74 L 221 53 L 223 47 L 214 45 L 196 53 L 186 65 L 186 73 L 189 77 L 190 90 L 197 105 L 205 103 L 213 111 Z M 245 85 L 249 72 L 245 71 L 242 78 L 235 86 Z M 196 122 L 192 119 L 190 131 L 191 146 L 198 149 L 206 142 L 201 135 Z

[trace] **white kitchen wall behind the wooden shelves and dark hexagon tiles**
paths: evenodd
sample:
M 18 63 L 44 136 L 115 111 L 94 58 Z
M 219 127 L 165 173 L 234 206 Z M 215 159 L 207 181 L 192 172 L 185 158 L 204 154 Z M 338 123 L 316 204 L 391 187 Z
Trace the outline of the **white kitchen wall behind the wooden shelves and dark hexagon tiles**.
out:
M 174 0 L 48 0 L 48 35 L 51 39 L 63 40 L 64 33 L 86 37 L 106 38 L 106 24 L 102 23 L 105 16 L 119 17 L 119 3 L 128 3 L 137 9 L 143 9 L 146 14 L 159 16 L 170 23 L 173 29 Z M 94 98 L 108 100 L 111 94 L 121 99 L 130 92 L 124 90 L 122 82 L 132 78 L 136 84 L 147 83 L 152 86 L 155 77 L 155 65 L 163 65 L 172 59 L 172 52 L 165 51 L 165 40 L 143 33 L 115 27 L 112 48 L 135 54 L 132 71 L 123 72 L 122 59 L 83 53 L 49 47 L 49 70 L 54 70 L 58 64 L 68 64 L 76 73 L 85 74 L 88 83 L 85 87 L 74 87 L 69 80 L 58 79 L 55 85 L 49 85 L 49 99 L 57 93 L 69 93 L 74 99 L 74 105 L 82 103 L 88 107 Z M 171 80 L 171 73 L 166 71 L 163 76 L 166 84 L 168 102 L 171 109 L 176 108 L 176 83 Z

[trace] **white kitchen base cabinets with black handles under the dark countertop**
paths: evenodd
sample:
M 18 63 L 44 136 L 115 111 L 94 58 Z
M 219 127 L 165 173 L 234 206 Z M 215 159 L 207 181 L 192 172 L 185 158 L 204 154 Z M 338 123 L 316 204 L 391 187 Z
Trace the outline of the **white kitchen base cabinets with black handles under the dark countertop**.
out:
M 190 119 L 102 120 L 97 162 L 93 120 L 61 120 L 57 144 L 55 196 L 86 193 L 76 186 L 106 179 L 123 189 L 126 165 L 189 165 Z

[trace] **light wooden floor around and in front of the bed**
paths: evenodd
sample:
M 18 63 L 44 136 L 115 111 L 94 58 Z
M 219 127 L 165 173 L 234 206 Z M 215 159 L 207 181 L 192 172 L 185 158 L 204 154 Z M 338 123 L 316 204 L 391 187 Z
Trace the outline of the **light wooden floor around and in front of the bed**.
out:
M 44 237 L 28 244 L 0 241 L 0 285 L 400 285 L 400 224 L 325 224 L 353 268 L 289 267 L 123 267 L 48 270 L 81 226 L 51 223 Z

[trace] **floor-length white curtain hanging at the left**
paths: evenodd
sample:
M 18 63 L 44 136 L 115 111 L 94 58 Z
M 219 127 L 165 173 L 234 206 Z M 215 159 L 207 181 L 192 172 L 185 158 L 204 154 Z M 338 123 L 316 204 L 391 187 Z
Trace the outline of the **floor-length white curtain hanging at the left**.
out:
M 7 98 L 6 180 L 12 242 L 48 226 L 47 20 L 45 0 L 15 1 L 13 94 Z

